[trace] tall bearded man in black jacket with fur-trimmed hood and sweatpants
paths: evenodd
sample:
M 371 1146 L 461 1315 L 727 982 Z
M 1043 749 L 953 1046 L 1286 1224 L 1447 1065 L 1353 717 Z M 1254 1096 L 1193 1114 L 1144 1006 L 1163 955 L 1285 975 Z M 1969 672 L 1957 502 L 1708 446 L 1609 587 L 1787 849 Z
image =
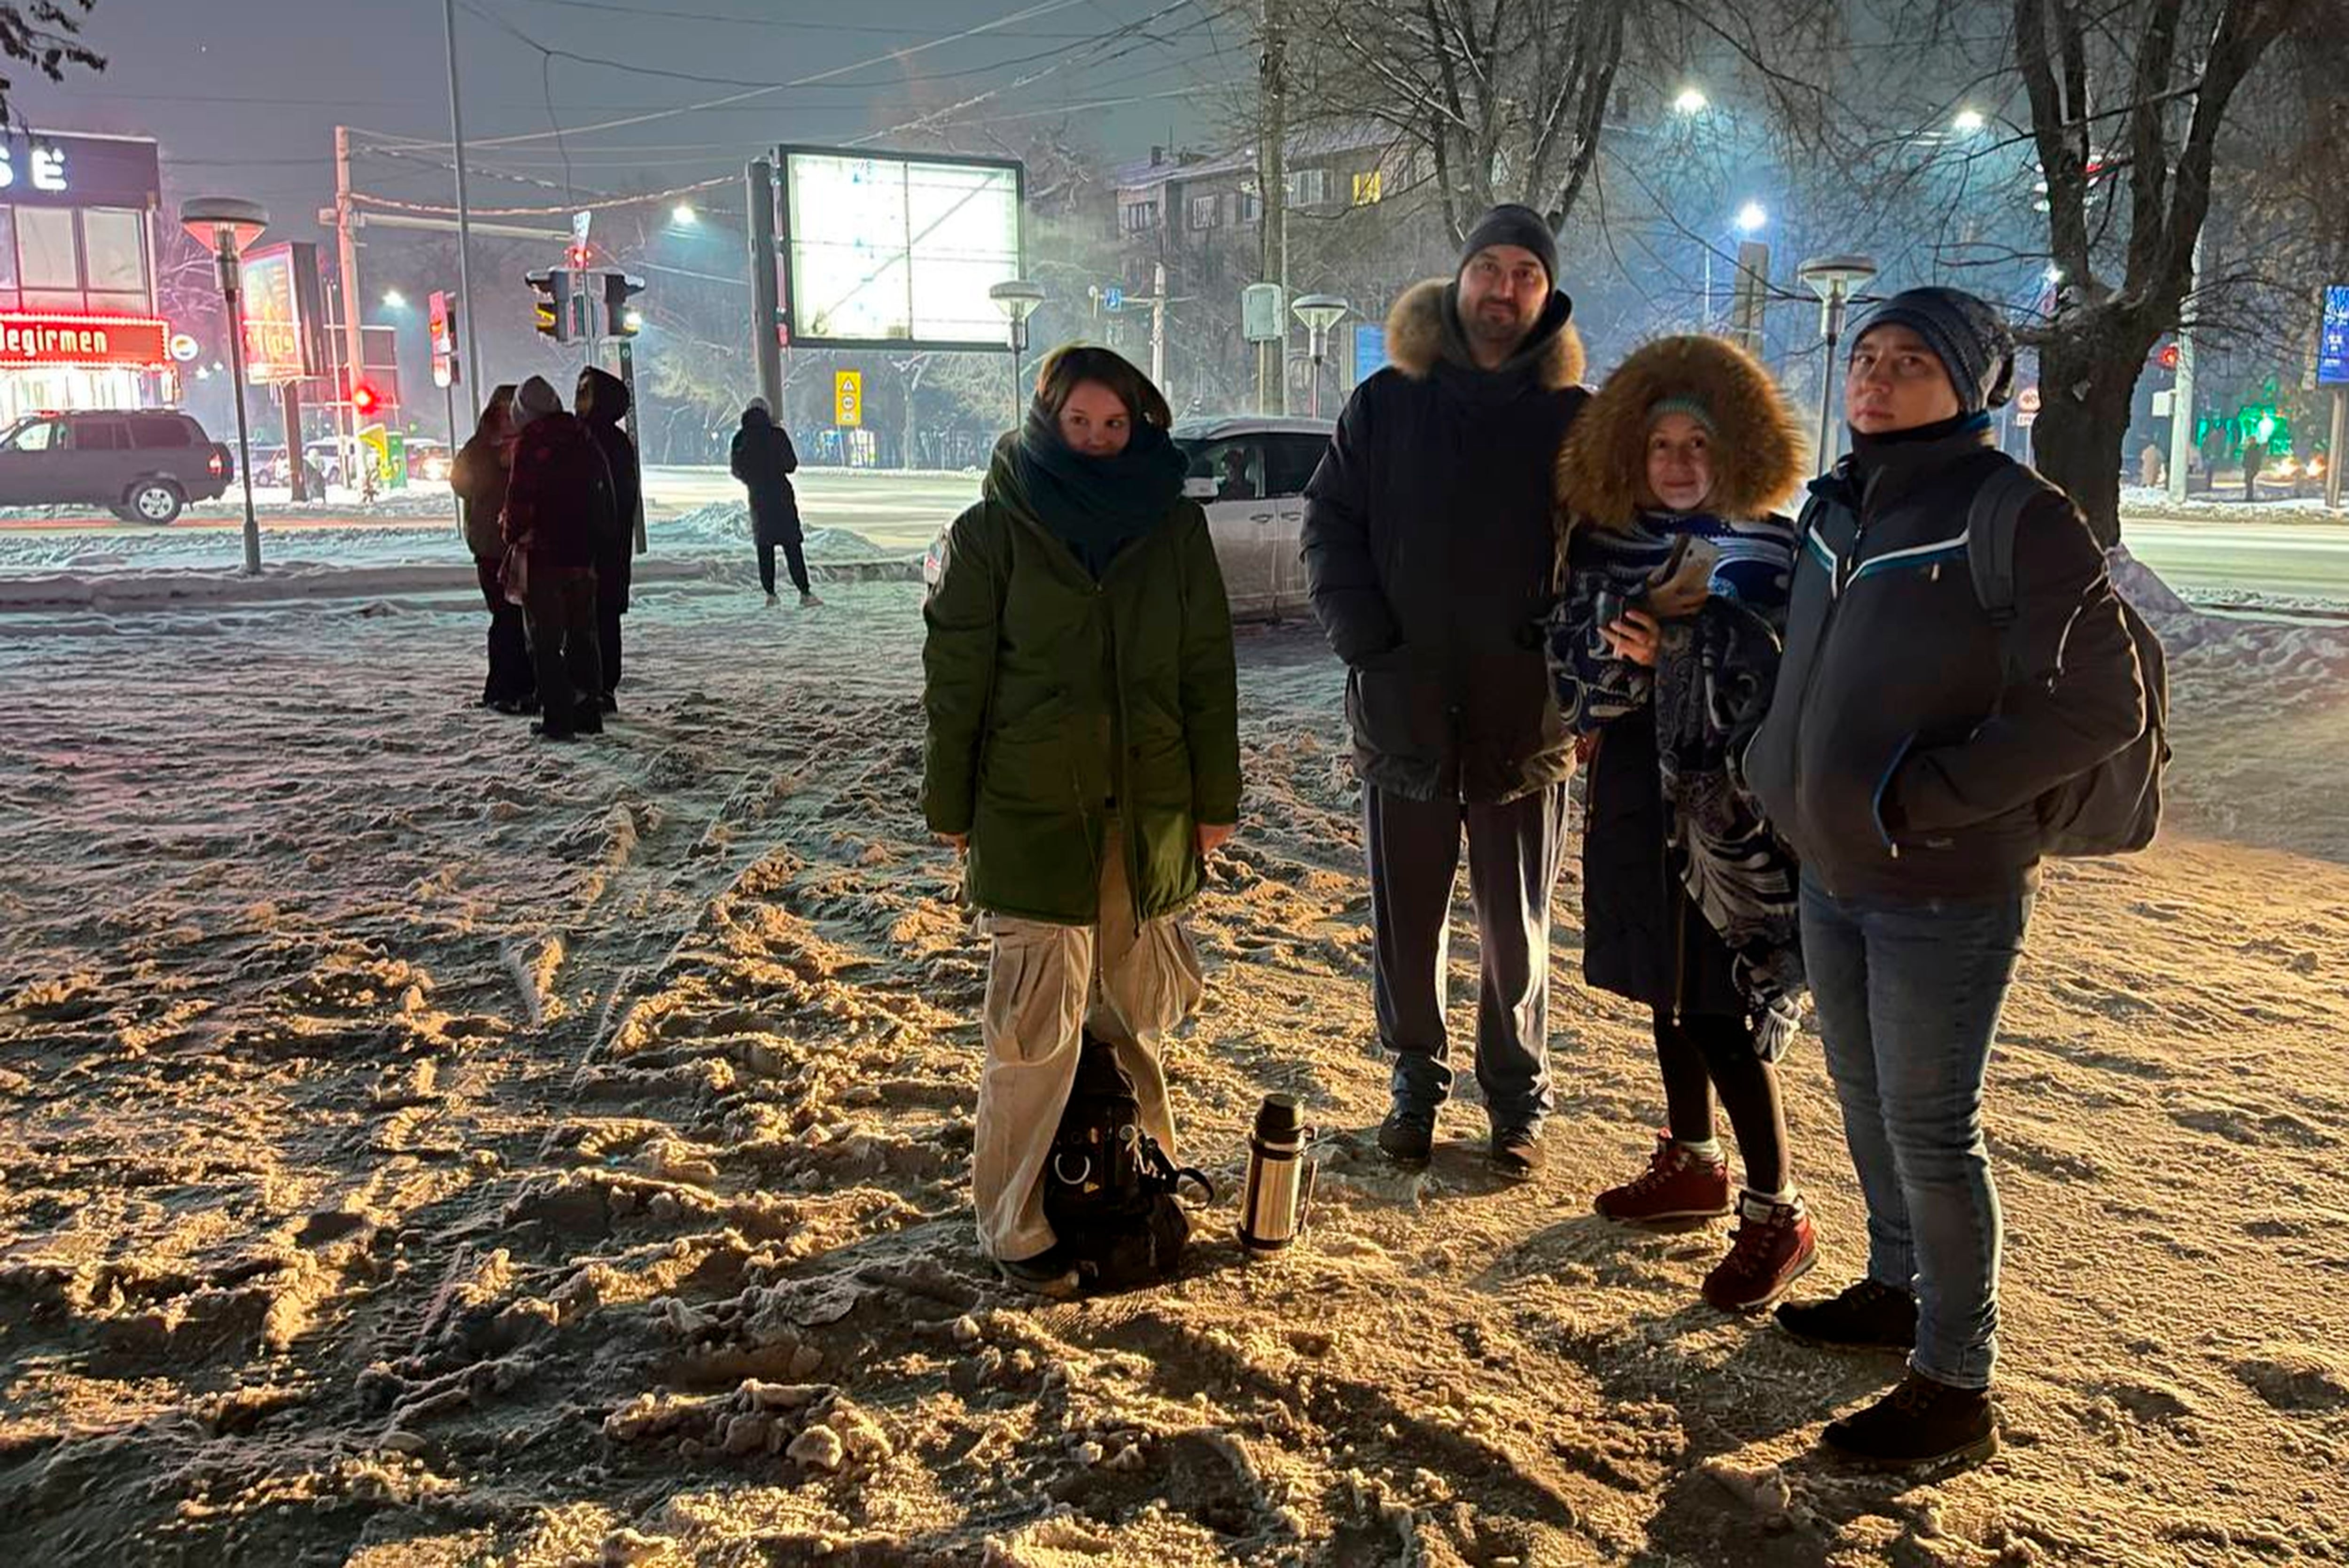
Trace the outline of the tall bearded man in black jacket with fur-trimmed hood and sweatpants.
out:
M 1304 527 L 1362 778 L 1379 1039 L 1395 1053 L 1379 1147 L 1426 1164 L 1452 1091 L 1445 931 L 1466 830 L 1475 1072 L 1492 1161 L 1513 1178 L 1539 1168 L 1550 1112 L 1550 889 L 1574 771 L 1536 630 L 1557 590 L 1557 447 L 1586 397 L 1555 275 L 1539 214 L 1485 214 L 1459 275 L 1388 315 L 1388 369 L 1346 402 Z

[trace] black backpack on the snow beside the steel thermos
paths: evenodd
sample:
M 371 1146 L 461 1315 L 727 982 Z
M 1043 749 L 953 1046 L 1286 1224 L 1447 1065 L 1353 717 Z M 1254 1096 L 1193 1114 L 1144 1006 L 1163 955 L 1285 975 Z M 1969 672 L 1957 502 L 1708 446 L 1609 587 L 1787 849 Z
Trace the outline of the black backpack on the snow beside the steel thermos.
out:
M 1088 1284 L 1123 1291 L 1174 1272 L 1191 1239 L 1184 1182 L 1214 1201 L 1205 1175 L 1177 1168 L 1142 1131 L 1135 1081 L 1116 1048 L 1088 1030 L 1043 1168 L 1043 1218 Z

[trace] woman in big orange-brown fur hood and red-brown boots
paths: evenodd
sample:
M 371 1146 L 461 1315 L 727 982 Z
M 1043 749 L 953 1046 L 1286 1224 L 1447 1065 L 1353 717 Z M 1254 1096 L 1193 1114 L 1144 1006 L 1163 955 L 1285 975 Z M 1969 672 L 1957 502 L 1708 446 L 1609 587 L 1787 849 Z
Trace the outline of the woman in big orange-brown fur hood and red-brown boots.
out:
M 1795 1032 L 1795 865 L 1731 769 L 1778 675 L 1804 442 L 1778 386 L 1712 336 L 1658 339 L 1600 388 L 1557 461 L 1571 588 L 1557 705 L 1590 759 L 1583 978 L 1656 1020 L 1670 1131 L 1597 1197 L 1626 1222 L 1738 1215 L 1705 1300 L 1745 1312 L 1811 1267 L 1776 1058 Z M 1731 1201 L 1719 1093 L 1745 1190 Z

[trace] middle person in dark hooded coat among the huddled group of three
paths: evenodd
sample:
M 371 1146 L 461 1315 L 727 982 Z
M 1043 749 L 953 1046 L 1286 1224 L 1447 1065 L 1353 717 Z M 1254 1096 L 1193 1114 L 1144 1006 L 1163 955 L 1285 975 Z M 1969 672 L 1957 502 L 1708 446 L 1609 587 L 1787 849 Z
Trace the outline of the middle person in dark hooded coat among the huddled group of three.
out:
M 505 592 L 521 604 L 547 741 L 604 733 L 604 658 L 594 562 L 615 529 L 611 473 L 594 437 L 543 376 L 514 393 L 514 470 L 505 487 Z

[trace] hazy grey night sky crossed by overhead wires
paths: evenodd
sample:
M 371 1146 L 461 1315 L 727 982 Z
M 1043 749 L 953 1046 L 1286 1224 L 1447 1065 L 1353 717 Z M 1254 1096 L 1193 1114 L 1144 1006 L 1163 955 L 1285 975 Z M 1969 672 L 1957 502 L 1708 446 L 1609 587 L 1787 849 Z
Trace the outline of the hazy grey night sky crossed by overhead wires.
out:
M 1088 42 L 1160 9 L 1167 14 L 1144 31 Z M 1012 12 L 1031 14 L 836 82 L 622 129 L 578 129 L 853 66 Z M 561 202 L 566 186 L 580 195 L 632 193 L 740 176 L 761 143 L 841 141 L 989 89 L 1001 96 L 970 108 L 968 118 L 1005 139 L 1034 129 L 1038 110 L 1088 106 L 1078 110 L 1085 136 L 1102 153 L 1128 158 L 1167 141 L 1170 132 L 1174 139 L 1212 134 L 1200 99 L 1224 82 L 1245 85 L 1254 73 L 1250 12 L 1252 5 L 1224 0 L 1172 9 L 1165 0 L 883 0 L 871 7 L 460 0 L 465 136 L 479 143 L 472 200 L 477 207 Z M 35 127 L 155 136 L 167 200 L 195 190 L 251 195 L 270 207 L 272 228 L 284 237 L 315 235 L 317 207 L 334 197 L 336 122 L 425 141 L 449 136 L 435 0 L 99 0 L 85 35 L 108 56 L 106 71 L 49 85 L 19 66 L 14 113 Z M 524 35 L 632 68 L 576 59 L 550 66 Z M 1048 68 L 1041 80 L 1015 87 Z M 564 148 L 545 136 L 550 85 L 552 122 L 571 132 Z M 1092 108 L 1104 99 L 1116 103 Z M 498 136 L 536 139 L 489 146 Z M 366 155 L 357 181 L 376 195 L 451 200 L 446 165 L 420 158 Z

